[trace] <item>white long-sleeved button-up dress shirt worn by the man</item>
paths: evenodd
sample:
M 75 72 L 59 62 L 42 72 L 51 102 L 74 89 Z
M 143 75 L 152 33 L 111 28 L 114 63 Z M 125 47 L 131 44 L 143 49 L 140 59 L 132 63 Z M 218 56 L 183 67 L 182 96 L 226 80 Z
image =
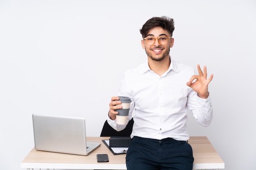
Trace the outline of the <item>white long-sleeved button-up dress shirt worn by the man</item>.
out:
M 128 116 L 130 120 L 134 111 L 131 137 L 188 140 L 188 108 L 199 124 L 209 126 L 213 118 L 210 96 L 207 99 L 199 98 L 186 85 L 195 74 L 193 68 L 172 59 L 169 69 L 162 76 L 150 70 L 148 61 L 126 71 L 120 82 L 119 96 L 127 96 L 132 100 Z M 109 117 L 108 123 L 117 131 L 126 126 L 116 124 L 116 120 Z

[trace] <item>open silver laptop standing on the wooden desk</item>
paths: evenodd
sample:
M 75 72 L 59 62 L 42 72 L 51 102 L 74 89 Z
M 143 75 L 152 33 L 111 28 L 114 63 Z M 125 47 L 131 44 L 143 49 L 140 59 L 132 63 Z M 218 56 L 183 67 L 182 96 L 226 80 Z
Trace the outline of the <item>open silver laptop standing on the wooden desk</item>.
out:
M 86 142 L 85 119 L 32 114 L 35 149 L 89 155 L 101 143 Z

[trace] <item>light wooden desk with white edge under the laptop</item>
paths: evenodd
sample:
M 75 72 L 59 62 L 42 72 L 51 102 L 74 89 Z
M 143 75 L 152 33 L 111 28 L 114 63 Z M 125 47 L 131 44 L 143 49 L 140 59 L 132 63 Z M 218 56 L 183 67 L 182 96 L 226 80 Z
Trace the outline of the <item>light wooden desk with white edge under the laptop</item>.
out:
M 87 137 L 90 142 L 101 142 L 101 146 L 88 156 L 70 155 L 38 151 L 33 148 L 21 162 L 21 168 L 45 169 L 104 169 L 126 170 L 126 154 L 113 155 L 101 140 L 109 137 Z M 224 169 L 222 161 L 207 137 L 190 137 L 189 144 L 193 148 L 193 169 Z M 109 162 L 98 163 L 97 154 L 107 153 Z

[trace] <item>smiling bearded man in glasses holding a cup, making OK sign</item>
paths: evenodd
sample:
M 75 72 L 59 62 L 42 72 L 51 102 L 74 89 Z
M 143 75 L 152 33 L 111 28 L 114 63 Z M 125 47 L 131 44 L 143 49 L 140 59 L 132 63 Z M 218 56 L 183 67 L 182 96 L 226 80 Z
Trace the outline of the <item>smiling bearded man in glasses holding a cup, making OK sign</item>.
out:
M 202 126 L 209 126 L 213 111 L 208 92 L 207 69 L 195 70 L 170 57 L 174 39 L 173 19 L 153 17 L 141 28 L 141 45 L 147 61 L 125 72 L 119 96 L 132 102 L 128 120 L 134 110 L 132 142 L 126 155 L 128 170 L 191 170 L 193 153 L 186 142 L 187 108 Z M 108 123 L 117 131 L 126 125 L 116 124 L 115 109 L 121 109 L 118 97 L 109 104 Z

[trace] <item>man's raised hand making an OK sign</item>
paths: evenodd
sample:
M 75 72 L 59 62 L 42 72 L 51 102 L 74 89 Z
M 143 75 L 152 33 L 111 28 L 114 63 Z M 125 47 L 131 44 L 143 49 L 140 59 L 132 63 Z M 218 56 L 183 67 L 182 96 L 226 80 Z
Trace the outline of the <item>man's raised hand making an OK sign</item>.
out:
M 186 85 L 191 87 L 195 92 L 197 92 L 200 98 L 207 98 L 209 96 L 208 85 L 213 79 L 213 74 L 211 74 L 210 78 L 207 80 L 206 66 L 204 66 L 204 73 L 203 73 L 199 64 L 198 64 L 198 73 L 199 75 L 193 75 L 190 78 L 190 81 L 186 83 Z M 195 79 L 196 81 L 193 82 Z

